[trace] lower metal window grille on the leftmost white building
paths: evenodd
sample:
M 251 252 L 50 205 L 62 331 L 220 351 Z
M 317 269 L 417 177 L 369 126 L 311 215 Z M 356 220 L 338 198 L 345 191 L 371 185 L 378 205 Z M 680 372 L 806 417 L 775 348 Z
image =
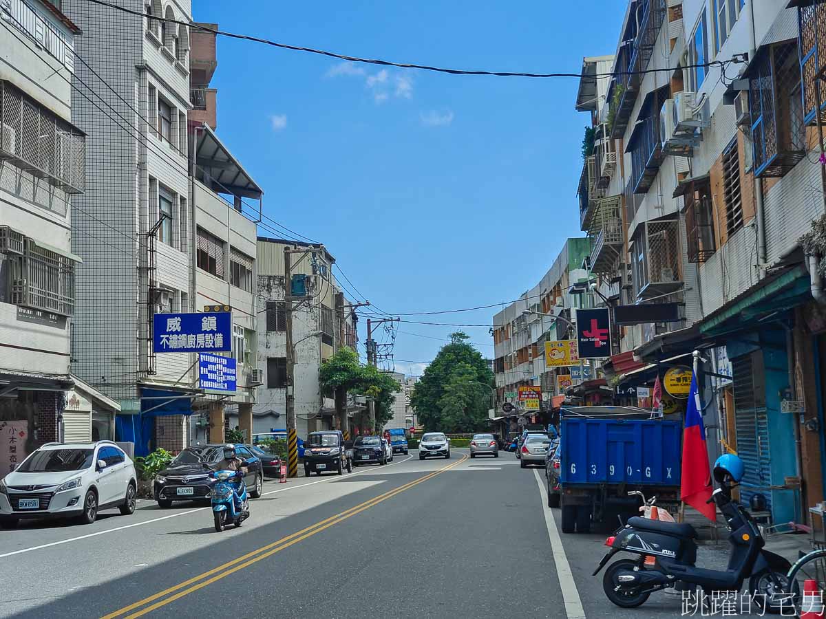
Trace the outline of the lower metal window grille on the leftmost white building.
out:
M 26 239 L 12 262 L 12 304 L 74 315 L 74 262 Z

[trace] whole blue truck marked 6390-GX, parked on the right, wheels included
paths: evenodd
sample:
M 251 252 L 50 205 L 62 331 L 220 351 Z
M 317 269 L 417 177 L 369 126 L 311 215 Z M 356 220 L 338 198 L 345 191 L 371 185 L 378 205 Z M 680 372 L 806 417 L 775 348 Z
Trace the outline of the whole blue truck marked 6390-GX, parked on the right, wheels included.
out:
M 682 424 L 628 406 L 563 407 L 559 438 L 548 450 L 548 506 L 562 512 L 565 533 L 591 522 L 638 513 L 630 491 L 657 496 L 670 510 L 680 502 Z

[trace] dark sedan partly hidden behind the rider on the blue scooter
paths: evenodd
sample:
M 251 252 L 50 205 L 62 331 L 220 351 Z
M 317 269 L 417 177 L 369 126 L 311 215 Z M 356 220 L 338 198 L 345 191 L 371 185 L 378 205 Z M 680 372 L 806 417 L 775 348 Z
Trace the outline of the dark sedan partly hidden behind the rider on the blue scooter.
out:
M 215 445 L 194 445 L 175 456 L 164 470 L 154 478 L 154 498 L 162 508 L 169 508 L 173 501 L 207 499 L 215 484 L 210 472 L 224 457 L 224 443 Z M 235 454 L 247 461 L 247 484 L 249 496 L 258 499 L 263 489 L 263 468 L 258 456 L 250 451 L 250 445 L 235 445 Z

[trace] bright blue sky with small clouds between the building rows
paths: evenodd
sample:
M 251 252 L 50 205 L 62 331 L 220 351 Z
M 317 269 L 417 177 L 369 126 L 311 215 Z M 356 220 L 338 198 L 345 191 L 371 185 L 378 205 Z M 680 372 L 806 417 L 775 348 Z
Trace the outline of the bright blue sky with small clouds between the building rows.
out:
M 577 73 L 583 56 L 613 53 L 625 3 L 193 5 L 222 30 L 354 56 Z M 324 242 L 384 311 L 513 300 L 582 234 L 577 79 L 382 69 L 220 37 L 212 85 L 218 134 L 264 188 L 265 213 Z M 491 324 L 495 312 L 402 318 Z M 453 330 L 399 324 L 396 369 L 420 376 L 408 361 L 432 359 Z M 487 328 L 464 330 L 492 356 Z

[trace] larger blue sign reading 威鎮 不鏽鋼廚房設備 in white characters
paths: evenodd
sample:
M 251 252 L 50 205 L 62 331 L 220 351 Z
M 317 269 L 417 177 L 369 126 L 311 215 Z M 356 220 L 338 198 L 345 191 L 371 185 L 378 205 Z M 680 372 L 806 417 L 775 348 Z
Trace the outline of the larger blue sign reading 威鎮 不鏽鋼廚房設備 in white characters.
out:
M 232 350 L 232 313 L 154 314 L 154 352 Z

